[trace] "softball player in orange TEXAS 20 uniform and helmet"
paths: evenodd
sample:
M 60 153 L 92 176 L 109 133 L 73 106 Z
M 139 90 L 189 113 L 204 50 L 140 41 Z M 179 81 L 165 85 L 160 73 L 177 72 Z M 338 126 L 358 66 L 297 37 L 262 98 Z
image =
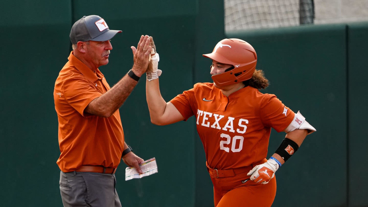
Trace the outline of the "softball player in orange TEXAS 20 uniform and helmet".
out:
M 275 95 L 259 92 L 268 86 L 268 80 L 262 70 L 255 69 L 254 48 L 241 39 L 223 39 L 212 53 L 203 55 L 212 59 L 213 83 L 197 83 L 170 102 L 160 94 L 162 71 L 153 53 L 146 71 L 151 121 L 166 125 L 196 117 L 215 206 L 271 206 L 276 194 L 275 172 L 307 134 L 316 130 Z M 271 128 L 286 132 L 286 136 L 275 154 L 266 159 Z

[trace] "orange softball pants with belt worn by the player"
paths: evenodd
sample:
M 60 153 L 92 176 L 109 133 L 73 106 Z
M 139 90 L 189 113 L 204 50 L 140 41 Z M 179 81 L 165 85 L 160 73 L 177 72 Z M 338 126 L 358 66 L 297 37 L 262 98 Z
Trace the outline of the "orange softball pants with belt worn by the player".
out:
M 265 161 L 267 160 L 265 159 L 262 163 Z M 261 163 L 255 165 L 259 164 Z M 234 176 L 218 178 L 216 178 L 219 175 L 217 170 L 208 167 L 213 183 L 215 207 L 268 207 L 272 205 L 276 196 L 276 176 L 267 184 L 255 183 L 252 180 L 242 183 L 250 178 L 247 173 L 255 165 L 249 166 L 249 169 L 246 168 L 241 173 L 234 171 Z

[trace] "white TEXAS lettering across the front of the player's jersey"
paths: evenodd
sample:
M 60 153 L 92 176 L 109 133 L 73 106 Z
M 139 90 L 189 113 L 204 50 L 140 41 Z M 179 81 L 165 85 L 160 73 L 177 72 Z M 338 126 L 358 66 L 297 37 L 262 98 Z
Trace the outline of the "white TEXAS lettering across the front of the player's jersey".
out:
M 213 117 L 215 120 L 211 123 L 208 119 L 209 117 Z M 219 121 L 222 119 L 225 119 L 225 120 L 227 119 L 227 121 L 225 125 L 220 126 Z M 234 125 L 234 123 L 236 125 Z M 221 130 L 229 131 L 233 133 L 235 133 L 236 131 L 237 133 L 244 134 L 245 131 L 247 130 L 247 126 L 245 124 L 248 124 L 248 123 L 249 122 L 247 119 L 235 120 L 235 118 L 231 116 L 225 117 L 224 115 L 210 113 L 210 112 L 206 112 L 206 111 L 197 109 L 197 125 L 201 124 L 201 126 L 205 126 L 205 127 L 221 129 Z

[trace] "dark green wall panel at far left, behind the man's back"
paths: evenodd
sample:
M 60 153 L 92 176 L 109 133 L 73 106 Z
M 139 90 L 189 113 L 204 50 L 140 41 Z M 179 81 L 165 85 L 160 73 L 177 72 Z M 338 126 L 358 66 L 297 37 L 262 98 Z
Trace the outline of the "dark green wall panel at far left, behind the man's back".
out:
M 70 1 L 2 1 L 0 10 L 0 206 L 60 206 L 53 89 L 69 53 Z

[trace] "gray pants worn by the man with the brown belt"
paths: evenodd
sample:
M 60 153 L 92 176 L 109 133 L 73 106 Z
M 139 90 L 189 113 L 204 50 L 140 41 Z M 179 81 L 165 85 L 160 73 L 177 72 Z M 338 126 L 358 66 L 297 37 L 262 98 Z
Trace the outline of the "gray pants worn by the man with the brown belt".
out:
M 115 175 L 60 171 L 60 194 L 64 207 L 121 207 Z

